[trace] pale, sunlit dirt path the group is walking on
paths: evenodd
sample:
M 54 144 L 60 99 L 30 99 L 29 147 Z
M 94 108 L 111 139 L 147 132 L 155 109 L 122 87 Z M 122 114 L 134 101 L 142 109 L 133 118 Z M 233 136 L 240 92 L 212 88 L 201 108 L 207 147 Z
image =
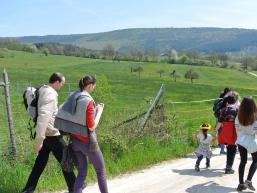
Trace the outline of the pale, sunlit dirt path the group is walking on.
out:
M 248 157 L 251 157 L 248 155 Z M 248 159 L 248 173 L 251 159 Z M 202 160 L 200 172 L 194 171 L 195 156 L 163 162 L 149 169 L 108 179 L 110 193 L 233 193 L 237 192 L 239 154 L 234 163 L 235 174 L 224 174 L 226 155 L 220 155 L 219 149 L 214 151 L 211 168 L 204 169 Z M 257 187 L 257 177 L 253 178 Z M 99 193 L 97 184 L 90 184 L 83 193 Z M 252 192 L 252 191 L 244 191 Z M 66 193 L 65 191 L 58 193 Z

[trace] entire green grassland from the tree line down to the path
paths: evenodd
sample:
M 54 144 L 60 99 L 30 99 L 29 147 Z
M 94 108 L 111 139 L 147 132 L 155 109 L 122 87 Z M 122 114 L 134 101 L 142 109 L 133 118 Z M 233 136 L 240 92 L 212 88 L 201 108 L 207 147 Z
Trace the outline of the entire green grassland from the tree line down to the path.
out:
M 140 80 L 138 73 L 130 72 L 131 67 L 139 65 L 144 68 Z M 98 133 L 108 176 L 136 170 L 162 160 L 183 156 L 192 151 L 195 147 L 191 140 L 194 130 L 202 122 L 210 122 L 214 126 L 215 119 L 212 101 L 202 103 L 189 101 L 214 99 L 224 87 L 233 88 L 242 97 L 257 94 L 256 77 L 237 70 L 215 67 L 163 63 L 113 63 L 107 60 L 8 51 L 6 57 L 0 58 L 0 72 L 4 68 L 7 69 L 10 79 L 19 156 L 18 160 L 13 162 L 0 158 L 0 175 L 5 176 L 0 178 L 0 192 L 3 193 L 21 190 L 36 156 L 32 151 L 34 141 L 29 140 L 29 133 L 25 128 L 28 115 L 22 106 L 21 93 L 24 85 L 31 83 L 39 86 L 47 83 L 52 72 L 62 72 L 66 77 L 66 85 L 59 94 L 60 104 L 67 97 L 69 86 L 71 90 L 76 89 L 79 79 L 84 75 L 96 75 L 99 80 L 94 97 L 96 102 L 104 102 L 106 106 Z M 194 80 L 193 84 L 184 78 L 185 72 L 190 68 L 197 71 L 200 77 Z M 158 70 L 165 70 L 162 78 L 159 77 Z M 177 82 L 169 76 L 173 70 L 181 75 Z M 147 100 L 156 95 L 161 84 L 164 84 L 166 89 L 162 101 L 167 118 L 164 123 L 159 124 L 157 120 L 159 115 L 154 113 L 151 121 L 157 120 L 157 124 L 152 126 L 152 129 L 160 130 L 161 134 L 163 132 L 169 134 L 168 138 L 164 135 L 160 135 L 160 139 L 159 135 L 148 135 L 148 132 L 153 132 L 151 124 L 148 125 L 149 128 L 144 131 L 143 136 L 137 135 L 138 128 L 135 127 L 138 120 L 124 127 L 112 128 L 113 125 L 146 111 L 150 105 Z M 3 95 L 0 96 L 0 110 L 0 128 L 2 128 L 0 134 L 4 136 L 0 139 L 0 153 L 5 155 L 9 134 Z M 95 172 L 90 166 L 88 181 L 95 179 Z M 47 169 L 40 178 L 37 190 L 64 188 L 65 182 L 60 167 L 51 157 Z

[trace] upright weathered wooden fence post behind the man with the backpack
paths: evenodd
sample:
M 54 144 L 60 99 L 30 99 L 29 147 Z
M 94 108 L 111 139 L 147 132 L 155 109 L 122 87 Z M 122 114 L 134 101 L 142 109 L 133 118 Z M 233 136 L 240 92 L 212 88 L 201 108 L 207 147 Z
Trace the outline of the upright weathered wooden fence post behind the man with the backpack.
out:
M 8 126 L 10 130 L 10 140 L 12 145 L 12 154 L 14 157 L 16 157 L 16 142 L 15 142 L 15 133 L 13 128 L 13 119 L 12 119 L 12 110 L 11 110 L 11 99 L 10 99 L 10 92 L 9 92 L 9 80 L 8 80 L 8 74 L 6 72 L 6 69 L 4 69 L 3 73 L 4 78 L 4 94 L 5 94 L 5 101 L 6 101 L 6 110 L 8 115 Z

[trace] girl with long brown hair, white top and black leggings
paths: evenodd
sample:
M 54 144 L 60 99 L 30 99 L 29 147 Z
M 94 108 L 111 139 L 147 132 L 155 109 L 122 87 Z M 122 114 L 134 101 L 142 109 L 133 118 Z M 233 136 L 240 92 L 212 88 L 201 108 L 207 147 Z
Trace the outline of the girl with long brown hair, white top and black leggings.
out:
M 255 191 L 255 188 L 252 185 L 252 178 L 257 167 L 256 112 L 257 108 L 254 99 L 252 97 L 244 97 L 239 107 L 238 116 L 235 120 L 235 127 L 238 136 L 236 144 L 238 145 L 241 159 L 238 168 L 238 191 L 245 190 L 246 188 Z M 247 179 L 244 182 L 247 153 L 252 155 L 252 164 L 250 166 Z

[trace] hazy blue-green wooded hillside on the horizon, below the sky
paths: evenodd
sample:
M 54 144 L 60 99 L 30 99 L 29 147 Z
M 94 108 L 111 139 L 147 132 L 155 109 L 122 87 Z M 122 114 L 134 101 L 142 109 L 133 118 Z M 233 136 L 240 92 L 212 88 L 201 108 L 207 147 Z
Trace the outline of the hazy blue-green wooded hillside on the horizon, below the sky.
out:
M 257 49 L 257 30 L 237 28 L 142 28 L 94 34 L 25 36 L 18 39 L 24 43 L 74 44 L 94 50 L 111 44 L 121 52 L 141 49 L 161 53 L 170 48 L 200 52 Z

